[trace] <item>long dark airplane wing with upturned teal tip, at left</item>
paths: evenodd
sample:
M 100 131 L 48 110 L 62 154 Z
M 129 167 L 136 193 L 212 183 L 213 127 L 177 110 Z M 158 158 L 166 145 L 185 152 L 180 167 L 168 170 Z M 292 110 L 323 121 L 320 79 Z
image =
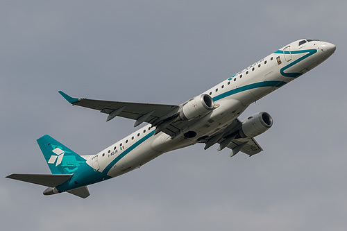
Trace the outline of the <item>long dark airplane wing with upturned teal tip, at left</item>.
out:
M 59 92 L 69 103 L 84 108 L 99 110 L 108 114 L 106 121 L 119 116 L 134 119 L 134 127 L 143 122 L 151 123 L 153 126 L 162 126 L 160 130 L 174 137 L 180 132 L 180 126 L 175 126 L 172 122 L 178 116 L 179 105 L 164 105 L 151 103 L 126 103 L 118 101 L 101 101 L 95 99 L 73 98 L 64 92 Z

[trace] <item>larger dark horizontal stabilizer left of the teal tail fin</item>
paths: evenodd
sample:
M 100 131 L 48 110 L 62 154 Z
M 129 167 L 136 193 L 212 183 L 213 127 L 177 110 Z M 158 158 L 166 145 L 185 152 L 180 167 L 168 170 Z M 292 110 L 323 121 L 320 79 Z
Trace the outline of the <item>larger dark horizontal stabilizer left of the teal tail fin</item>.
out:
M 57 187 L 62 183 L 69 180 L 74 174 L 11 174 L 6 178 L 14 180 L 22 180 L 25 182 L 33 183 L 36 185 L 43 185 L 48 187 Z

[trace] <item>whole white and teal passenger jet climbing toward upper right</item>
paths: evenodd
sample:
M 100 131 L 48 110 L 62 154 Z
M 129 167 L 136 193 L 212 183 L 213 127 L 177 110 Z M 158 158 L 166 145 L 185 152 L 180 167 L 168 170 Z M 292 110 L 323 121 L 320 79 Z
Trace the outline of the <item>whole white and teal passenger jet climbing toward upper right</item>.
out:
M 232 77 L 180 105 L 126 103 L 74 98 L 59 92 L 71 105 L 99 110 L 115 117 L 135 120 L 143 128 L 104 148 L 96 155 L 78 155 L 49 135 L 37 139 L 52 174 L 18 174 L 6 178 L 48 187 L 44 195 L 68 192 L 81 198 L 90 196 L 88 185 L 121 176 L 155 157 L 191 146 L 204 149 L 219 144 L 218 151 L 230 148 L 230 157 L 239 152 L 249 156 L 263 149 L 254 137 L 273 124 L 267 112 L 240 121 L 248 105 L 286 85 L 328 59 L 336 46 L 320 40 L 297 40 L 239 71 Z

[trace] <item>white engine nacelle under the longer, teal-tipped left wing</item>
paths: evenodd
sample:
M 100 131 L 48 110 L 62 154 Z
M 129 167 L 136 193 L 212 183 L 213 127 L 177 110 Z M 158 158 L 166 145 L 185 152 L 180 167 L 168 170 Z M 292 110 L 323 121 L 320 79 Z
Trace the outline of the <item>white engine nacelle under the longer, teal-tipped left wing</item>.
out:
M 201 94 L 189 99 L 180 110 L 180 119 L 192 120 L 208 114 L 214 108 L 214 101 L 208 94 Z

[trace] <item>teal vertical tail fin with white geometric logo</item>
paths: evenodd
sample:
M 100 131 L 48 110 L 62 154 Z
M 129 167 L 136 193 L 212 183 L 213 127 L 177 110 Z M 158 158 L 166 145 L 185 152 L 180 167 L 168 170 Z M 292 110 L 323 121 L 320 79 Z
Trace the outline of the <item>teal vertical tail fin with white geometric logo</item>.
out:
M 49 135 L 37 139 L 42 154 L 53 174 L 71 174 L 85 159 Z

